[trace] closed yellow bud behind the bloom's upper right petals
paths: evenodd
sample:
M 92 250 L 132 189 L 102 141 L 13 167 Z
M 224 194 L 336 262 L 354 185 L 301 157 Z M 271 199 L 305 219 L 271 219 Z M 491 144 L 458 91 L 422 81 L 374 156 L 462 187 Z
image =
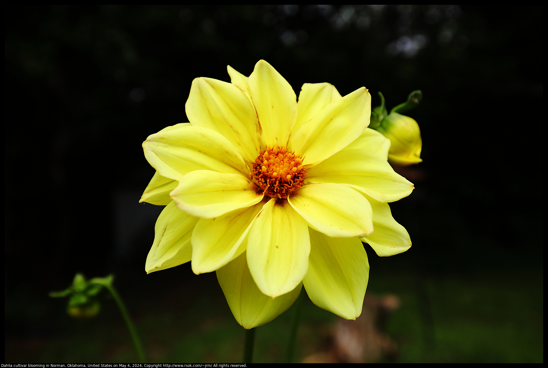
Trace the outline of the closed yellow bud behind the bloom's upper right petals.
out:
M 390 139 L 388 160 L 391 163 L 407 166 L 422 161 L 420 151 L 423 140 L 420 138 L 419 124 L 414 119 L 392 112 L 383 119 L 377 130 Z

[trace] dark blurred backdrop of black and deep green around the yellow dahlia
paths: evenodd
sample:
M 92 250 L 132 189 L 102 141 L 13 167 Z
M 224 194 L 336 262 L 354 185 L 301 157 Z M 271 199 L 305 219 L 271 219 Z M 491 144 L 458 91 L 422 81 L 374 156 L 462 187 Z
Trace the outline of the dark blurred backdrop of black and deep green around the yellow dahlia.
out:
M 144 272 L 162 208 L 138 204 L 154 172 L 141 142 L 187 122 L 193 78 L 259 59 L 297 94 L 365 86 L 390 110 L 423 90 L 407 114 L 424 162 L 398 170 L 416 189 L 391 204 L 413 247 L 366 246 L 368 294 L 402 300 L 393 359 L 543 361 L 542 24 L 541 5 L 5 8 L 5 361 L 135 359 L 112 301 L 75 321 L 47 296 L 76 272 L 116 275 L 151 360 L 239 359 L 214 274 Z

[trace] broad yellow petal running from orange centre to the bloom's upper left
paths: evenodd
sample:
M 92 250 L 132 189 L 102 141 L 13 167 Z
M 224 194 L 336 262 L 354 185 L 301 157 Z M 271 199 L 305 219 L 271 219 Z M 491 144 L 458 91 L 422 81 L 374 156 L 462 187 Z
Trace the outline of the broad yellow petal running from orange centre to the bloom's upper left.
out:
M 255 110 L 235 85 L 212 78 L 196 78 L 185 108 L 193 126 L 219 132 L 248 162 L 259 155 L 259 123 Z

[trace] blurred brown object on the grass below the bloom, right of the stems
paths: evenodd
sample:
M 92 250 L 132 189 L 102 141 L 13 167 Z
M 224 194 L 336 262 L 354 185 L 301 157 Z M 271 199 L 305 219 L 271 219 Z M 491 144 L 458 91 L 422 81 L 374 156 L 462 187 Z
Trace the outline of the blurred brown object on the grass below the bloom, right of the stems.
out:
M 399 307 L 396 295 L 366 295 L 362 314 L 356 320 L 339 319 L 323 352 L 311 354 L 302 363 L 374 363 L 393 360 L 397 344 L 386 334 L 386 323 Z

